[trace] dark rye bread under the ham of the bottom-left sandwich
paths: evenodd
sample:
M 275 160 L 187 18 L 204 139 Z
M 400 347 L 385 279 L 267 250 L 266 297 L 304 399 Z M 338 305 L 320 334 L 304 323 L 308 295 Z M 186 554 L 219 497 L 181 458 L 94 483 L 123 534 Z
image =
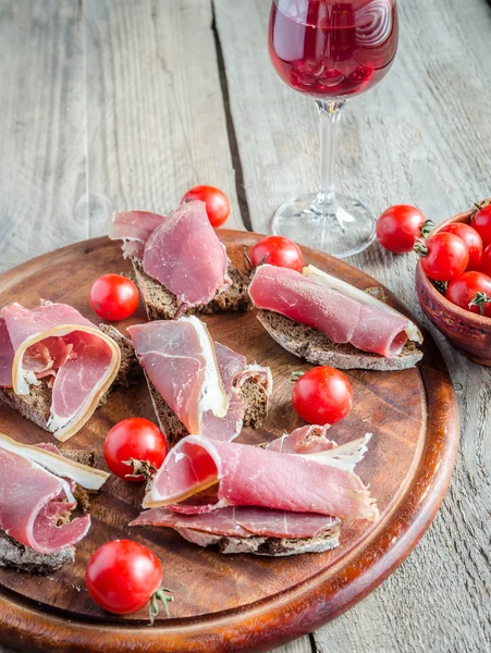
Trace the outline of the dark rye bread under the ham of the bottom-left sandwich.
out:
M 91 452 L 64 451 L 63 456 L 82 465 L 94 467 L 94 453 Z M 86 514 L 90 508 L 87 490 L 77 484 L 73 495 L 77 502 L 77 508 Z M 64 523 L 70 519 L 71 512 L 64 513 L 60 516 L 59 523 Z M 74 562 L 75 546 L 67 546 L 57 553 L 38 553 L 0 530 L 0 567 L 13 567 L 17 571 L 46 576 L 60 569 L 63 565 L 73 565 Z

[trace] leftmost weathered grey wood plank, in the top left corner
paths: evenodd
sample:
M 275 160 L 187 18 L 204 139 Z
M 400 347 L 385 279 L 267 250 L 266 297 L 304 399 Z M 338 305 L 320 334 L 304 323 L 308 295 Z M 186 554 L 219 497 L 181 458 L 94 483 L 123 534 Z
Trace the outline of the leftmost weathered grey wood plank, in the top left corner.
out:
M 78 2 L 0 2 L 0 271 L 87 237 Z

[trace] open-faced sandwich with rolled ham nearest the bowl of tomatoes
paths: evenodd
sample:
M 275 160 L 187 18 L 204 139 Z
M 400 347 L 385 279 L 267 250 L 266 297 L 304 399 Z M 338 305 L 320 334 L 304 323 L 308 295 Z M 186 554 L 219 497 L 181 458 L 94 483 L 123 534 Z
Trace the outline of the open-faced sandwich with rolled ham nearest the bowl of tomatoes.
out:
M 421 359 L 422 335 L 384 303 L 314 266 L 304 273 L 259 266 L 249 286 L 258 319 L 282 347 L 316 365 L 403 370 Z

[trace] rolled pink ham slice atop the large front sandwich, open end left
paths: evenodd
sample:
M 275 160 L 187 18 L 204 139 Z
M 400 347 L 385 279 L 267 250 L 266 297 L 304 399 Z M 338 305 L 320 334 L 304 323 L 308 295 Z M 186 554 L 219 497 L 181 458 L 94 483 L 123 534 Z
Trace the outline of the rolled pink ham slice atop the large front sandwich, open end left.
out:
M 189 435 L 169 453 L 144 507 L 176 504 L 217 484 L 225 506 L 256 506 L 340 518 L 378 517 L 375 500 L 353 471 L 305 456 Z

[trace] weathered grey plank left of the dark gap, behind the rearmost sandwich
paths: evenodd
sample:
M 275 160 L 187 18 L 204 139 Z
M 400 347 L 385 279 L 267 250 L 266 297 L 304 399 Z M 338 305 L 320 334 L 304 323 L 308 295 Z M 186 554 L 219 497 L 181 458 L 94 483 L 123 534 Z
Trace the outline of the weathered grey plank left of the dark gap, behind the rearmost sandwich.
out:
M 193 185 L 235 193 L 210 0 L 84 1 L 90 235 L 114 209 L 174 209 Z

